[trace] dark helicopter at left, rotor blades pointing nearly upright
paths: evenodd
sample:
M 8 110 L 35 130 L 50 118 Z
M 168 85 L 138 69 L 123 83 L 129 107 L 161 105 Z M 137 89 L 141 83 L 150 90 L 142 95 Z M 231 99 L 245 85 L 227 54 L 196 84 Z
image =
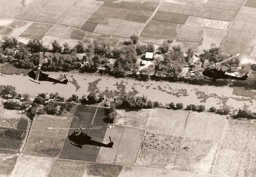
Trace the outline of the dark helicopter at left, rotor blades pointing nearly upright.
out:
M 40 84 L 41 81 L 48 81 L 48 82 L 53 82 L 52 84 L 56 83 L 61 83 L 61 84 L 67 84 L 67 78 L 66 75 L 64 74 L 65 79 L 63 81 L 54 79 L 52 77 L 48 77 L 49 74 L 45 73 L 44 71 L 41 70 L 42 64 L 43 64 L 43 59 L 44 59 L 44 53 L 40 52 L 39 53 L 39 65 L 37 68 L 33 69 L 32 71 L 29 71 L 28 75 L 31 77 L 33 80 L 29 79 L 30 81 L 34 83 Z M 39 82 L 35 82 L 39 81 Z

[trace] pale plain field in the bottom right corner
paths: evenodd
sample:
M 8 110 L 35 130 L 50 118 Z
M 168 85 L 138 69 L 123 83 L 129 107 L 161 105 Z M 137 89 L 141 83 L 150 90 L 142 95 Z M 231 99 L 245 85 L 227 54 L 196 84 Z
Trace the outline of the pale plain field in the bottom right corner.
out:
M 255 176 L 255 131 L 255 123 L 228 121 L 212 174 Z

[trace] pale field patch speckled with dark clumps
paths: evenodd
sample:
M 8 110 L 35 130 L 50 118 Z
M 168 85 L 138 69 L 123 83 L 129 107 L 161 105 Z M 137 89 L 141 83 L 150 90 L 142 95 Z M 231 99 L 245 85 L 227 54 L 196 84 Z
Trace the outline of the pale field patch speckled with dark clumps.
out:
M 137 164 L 162 168 L 201 172 L 201 162 L 211 166 L 214 156 L 208 158 L 217 144 L 205 140 L 190 140 L 164 134 L 147 132 Z M 209 172 L 210 169 L 204 169 Z

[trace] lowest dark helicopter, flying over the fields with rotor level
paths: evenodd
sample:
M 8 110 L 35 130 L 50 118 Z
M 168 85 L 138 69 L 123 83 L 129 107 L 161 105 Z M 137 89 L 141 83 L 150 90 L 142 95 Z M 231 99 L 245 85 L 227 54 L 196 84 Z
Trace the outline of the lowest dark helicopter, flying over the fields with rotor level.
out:
M 73 131 L 73 133 L 68 136 L 68 139 L 74 143 L 74 144 L 73 143 L 70 143 L 70 144 L 72 144 L 73 146 L 77 146 L 79 148 L 82 148 L 83 145 L 93 145 L 93 146 L 102 146 L 102 147 L 112 148 L 114 143 L 113 143 L 113 141 L 111 141 L 111 137 L 109 137 L 110 143 L 104 144 L 104 143 L 100 143 L 98 141 L 91 140 L 92 137 L 83 133 L 82 130 L 99 129 L 99 128 L 113 128 L 113 127 L 114 126 L 102 126 L 102 127 L 93 127 L 93 128 L 81 128 L 81 127 L 80 128 L 52 128 L 52 127 L 48 127 L 48 129 L 80 130 L 80 131 Z

